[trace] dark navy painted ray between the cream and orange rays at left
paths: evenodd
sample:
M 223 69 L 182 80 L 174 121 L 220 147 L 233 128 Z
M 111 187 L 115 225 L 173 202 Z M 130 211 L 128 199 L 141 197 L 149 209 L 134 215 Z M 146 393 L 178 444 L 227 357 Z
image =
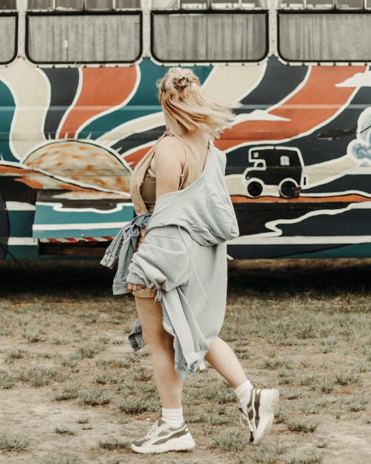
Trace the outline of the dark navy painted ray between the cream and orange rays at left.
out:
M 79 84 L 77 68 L 43 68 L 50 81 L 50 106 L 46 113 L 44 133 L 54 139 L 59 123 L 76 95 Z

